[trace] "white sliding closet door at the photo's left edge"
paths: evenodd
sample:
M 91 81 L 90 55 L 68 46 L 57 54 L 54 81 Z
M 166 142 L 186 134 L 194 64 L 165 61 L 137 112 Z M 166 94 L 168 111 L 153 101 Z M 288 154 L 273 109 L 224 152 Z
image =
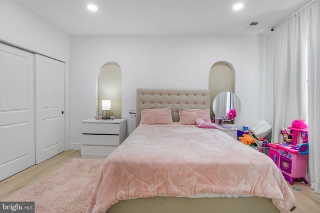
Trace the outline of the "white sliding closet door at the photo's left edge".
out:
M 0 43 L 0 181 L 35 163 L 33 61 Z

